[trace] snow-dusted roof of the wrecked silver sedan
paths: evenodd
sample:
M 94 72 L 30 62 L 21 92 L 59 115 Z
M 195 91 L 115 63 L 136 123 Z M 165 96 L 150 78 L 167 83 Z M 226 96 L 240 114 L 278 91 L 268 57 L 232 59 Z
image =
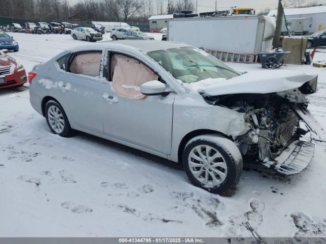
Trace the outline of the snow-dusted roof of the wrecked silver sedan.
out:
M 190 47 L 187 44 L 180 42 L 169 42 L 169 41 L 134 41 L 134 40 L 121 40 L 121 41 L 105 41 L 99 42 L 94 45 L 83 45 L 79 47 L 74 47 L 72 51 L 81 51 L 81 50 L 91 50 L 91 49 L 104 49 L 104 48 L 114 48 L 131 51 L 132 49 L 138 49 L 142 52 L 151 52 L 164 50 L 169 48 L 179 48 L 179 47 Z

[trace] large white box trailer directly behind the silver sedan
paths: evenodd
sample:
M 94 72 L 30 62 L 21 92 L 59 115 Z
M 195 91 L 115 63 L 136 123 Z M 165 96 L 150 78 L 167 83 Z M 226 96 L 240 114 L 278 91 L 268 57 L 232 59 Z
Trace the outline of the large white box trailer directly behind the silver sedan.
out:
M 274 17 L 261 15 L 174 18 L 169 20 L 167 40 L 204 49 L 258 53 L 271 50 L 275 26 Z

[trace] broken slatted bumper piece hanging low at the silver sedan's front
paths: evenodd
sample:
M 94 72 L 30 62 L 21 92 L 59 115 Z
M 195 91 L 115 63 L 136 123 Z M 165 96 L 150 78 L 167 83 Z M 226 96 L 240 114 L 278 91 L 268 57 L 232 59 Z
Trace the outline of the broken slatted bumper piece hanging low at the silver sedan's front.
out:
M 274 169 L 283 175 L 300 173 L 311 162 L 314 151 L 314 143 L 293 141 L 275 158 Z

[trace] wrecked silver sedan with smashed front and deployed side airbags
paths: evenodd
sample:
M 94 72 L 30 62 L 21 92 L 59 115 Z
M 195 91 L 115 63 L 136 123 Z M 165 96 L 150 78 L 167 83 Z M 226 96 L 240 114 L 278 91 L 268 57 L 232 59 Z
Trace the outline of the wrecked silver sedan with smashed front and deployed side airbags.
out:
M 30 101 L 52 133 L 83 131 L 182 163 L 195 186 L 221 193 L 243 159 L 303 170 L 314 153 L 304 121 L 312 140 L 326 138 L 306 106 L 317 75 L 256 72 L 182 43 L 106 42 L 35 66 Z

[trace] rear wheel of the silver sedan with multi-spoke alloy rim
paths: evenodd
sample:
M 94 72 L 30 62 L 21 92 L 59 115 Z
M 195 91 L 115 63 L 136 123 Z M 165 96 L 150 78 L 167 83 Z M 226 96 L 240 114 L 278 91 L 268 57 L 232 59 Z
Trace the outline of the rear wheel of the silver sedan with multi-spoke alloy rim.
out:
M 52 133 L 63 137 L 73 134 L 67 115 L 58 102 L 50 100 L 46 103 L 45 118 Z

